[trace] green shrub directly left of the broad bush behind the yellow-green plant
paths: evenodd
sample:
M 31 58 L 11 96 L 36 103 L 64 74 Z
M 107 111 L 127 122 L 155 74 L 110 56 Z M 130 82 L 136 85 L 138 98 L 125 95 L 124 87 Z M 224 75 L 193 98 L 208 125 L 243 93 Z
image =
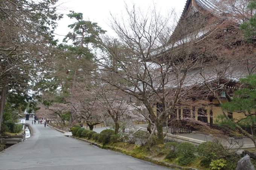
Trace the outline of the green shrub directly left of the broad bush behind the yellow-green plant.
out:
M 187 165 L 189 162 L 195 160 L 196 147 L 189 142 L 182 142 L 177 146 L 177 152 L 181 154 L 181 158 L 178 159 L 180 165 Z

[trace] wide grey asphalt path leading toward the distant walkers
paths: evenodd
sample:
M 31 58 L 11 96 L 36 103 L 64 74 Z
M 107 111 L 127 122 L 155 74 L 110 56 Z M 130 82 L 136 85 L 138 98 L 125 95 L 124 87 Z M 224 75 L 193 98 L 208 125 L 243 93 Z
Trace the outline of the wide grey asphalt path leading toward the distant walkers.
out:
M 0 152 L 0 170 L 171 170 L 66 137 L 43 123 L 31 128 L 25 142 Z

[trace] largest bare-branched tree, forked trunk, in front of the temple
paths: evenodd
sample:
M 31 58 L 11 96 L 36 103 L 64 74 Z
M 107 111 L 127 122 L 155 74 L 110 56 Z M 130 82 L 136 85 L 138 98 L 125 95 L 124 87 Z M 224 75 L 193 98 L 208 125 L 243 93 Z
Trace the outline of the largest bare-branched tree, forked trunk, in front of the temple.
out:
M 100 71 L 92 76 L 143 103 L 149 114 L 148 131 L 155 134 L 157 130 L 158 143 L 164 143 L 166 119 L 175 114 L 179 100 L 198 83 L 188 73 L 204 54 L 204 49 L 195 45 L 204 33 L 199 31 L 204 20 L 195 24 L 197 29 L 180 25 L 172 35 L 176 23 L 171 24 L 175 20 L 171 15 L 162 17 L 154 8 L 143 13 L 135 6 L 131 10 L 126 7 L 126 12 L 127 20 L 113 15 L 111 27 L 118 39 L 100 37 L 104 47 L 98 59 Z M 162 104 L 162 109 L 156 114 L 157 103 Z

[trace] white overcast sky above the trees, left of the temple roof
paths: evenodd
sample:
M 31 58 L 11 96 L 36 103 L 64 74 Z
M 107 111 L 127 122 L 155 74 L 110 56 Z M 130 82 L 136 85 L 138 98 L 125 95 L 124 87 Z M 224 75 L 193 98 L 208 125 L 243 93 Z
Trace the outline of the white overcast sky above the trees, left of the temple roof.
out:
M 156 4 L 156 8 L 160 10 L 163 16 L 172 8 L 175 9 L 177 14 L 180 14 L 186 5 L 186 0 L 59 0 L 59 2 L 62 4 L 58 7 L 58 12 L 64 14 L 64 18 L 58 21 L 55 33 L 60 35 L 56 35 L 60 43 L 64 36 L 72 31 L 67 26 L 75 22 L 75 20 L 70 20 L 66 16 L 66 14 L 69 14 L 69 11 L 81 12 L 84 20 L 98 23 L 98 26 L 103 30 L 107 30 L 108 34 L 113 35 L 113 31 L 108 26 L 111 18 L 110 12 L 118 17 L 122 17 L 122 14 L 125 14 L 125 3 L 128 5 L 128 8 L 131 8 L 134 3 L 142 9 L 148 9 L 149 6 Z

